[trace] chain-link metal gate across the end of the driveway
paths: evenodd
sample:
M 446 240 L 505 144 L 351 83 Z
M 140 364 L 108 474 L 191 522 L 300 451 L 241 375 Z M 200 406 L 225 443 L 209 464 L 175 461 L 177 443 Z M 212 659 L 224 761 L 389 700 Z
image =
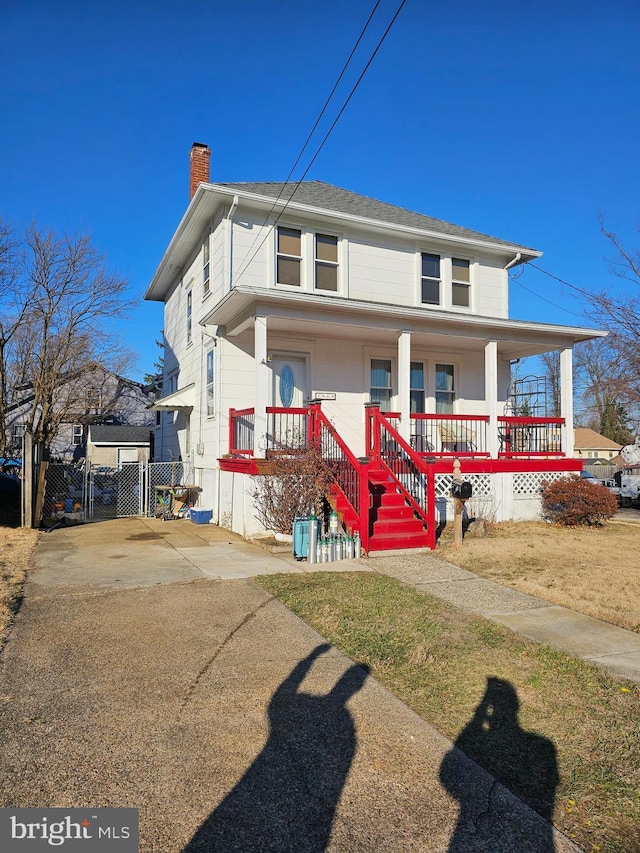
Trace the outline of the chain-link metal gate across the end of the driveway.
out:
M 43 518 L 153 516 L 158 509 L 156 486 L 185 485 L 192 476 L 191 466 L 182 462 L 123 462 L 117 468 L 50 463 Z

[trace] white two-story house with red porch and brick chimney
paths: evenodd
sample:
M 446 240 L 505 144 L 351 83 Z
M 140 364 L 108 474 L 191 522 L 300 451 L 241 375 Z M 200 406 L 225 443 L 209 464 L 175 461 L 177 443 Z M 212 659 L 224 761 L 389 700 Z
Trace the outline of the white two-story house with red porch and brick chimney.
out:
M 572 348 L 604 333 L 509 319 L 508 270 L 540 252 L 320 181 L 212 184 L 199 144 L 191 167 L 191 202 L 145 294 L 165 304 L 155 455 L 193 463 L 214 520 L 255 532 L 259 460 L 311 434 L 371 550 L 393 539 L 380 494 L 402 494 L 431 528 L 433 497 L 416 501 L 435 472 L 445 511 L 456 456 L 495 518 L 534 515 L 540 482 L 581 467 Z M 511 362 L 554 350 L 562 417 L 514 417 Z M 392 446 L 402 465 L 389 474 Z

